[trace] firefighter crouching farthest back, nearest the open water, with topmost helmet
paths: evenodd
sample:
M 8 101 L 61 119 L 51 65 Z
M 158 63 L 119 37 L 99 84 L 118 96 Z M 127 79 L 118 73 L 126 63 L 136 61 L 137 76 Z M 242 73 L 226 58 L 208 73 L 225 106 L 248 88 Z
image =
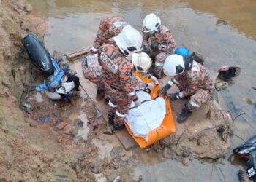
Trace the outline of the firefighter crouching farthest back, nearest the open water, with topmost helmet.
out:
M 143 52 L 154 60 L 153 74 L 161 79 L 165 59 L 173 54 L 176 47 L 173 35 L 168 28 L 161 25 L 161 20 L 153 13 L 144 18 L 142 31 Z

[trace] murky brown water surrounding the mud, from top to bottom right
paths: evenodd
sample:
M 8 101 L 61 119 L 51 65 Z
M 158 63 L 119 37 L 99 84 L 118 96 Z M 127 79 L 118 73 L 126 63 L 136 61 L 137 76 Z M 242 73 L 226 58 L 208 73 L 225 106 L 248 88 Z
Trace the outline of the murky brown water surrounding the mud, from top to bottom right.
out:
M 140 29 L 143 17 L 154 12 L 161 17 L 162 24 L 173 32 L 177 45 L 186 45 L 190 50 L 196 50 L 205 56 L 206 67 L 210 69 L 213 78 L 219 66 L 241 66 L 241 76 L 236 84 L 229 91 L 219 92 L 219 101 L 226 109 L 230 109 L 229 103 L 233 101 L 242 108 L 238 113 L 246 112 L 243 116 L 250 124 L 243 119 L 236 119 L 236 135 L 244 139 L 255 135 L 252 128 L 256 128 L 256 123 L 252 122 L 253 108 L 244 102 L 247 97 L 256 101 L 256 91 L 249 92 L 251 87 L 256 87 L 255 0 L 28 1 L 34 7 L 34 14 L 48 18 L 45 45 L 50 52 L 73 52 L 89 47 L 94 41 L 102 17 L 120 15 Z M 241 142 L 234 137 L 231 149 Z M 227 157 L 231 153 L 232 150 Z M 236 162 L 230 165 L 225 161 L 225 165 L 218 165 L 213 170 L 215 177 L 210 178 L 211 164 L 192 162 L 186 168 L 172 161 L 156 165 L 155 161 L 148 161 L 150 157 L 146 159 L 150 167 L 139 167 L 148 181 L 237 181 Z M 156 176 L 158 177 L 155 178 Z M 171 178 L 172 176 L 175 178 Z

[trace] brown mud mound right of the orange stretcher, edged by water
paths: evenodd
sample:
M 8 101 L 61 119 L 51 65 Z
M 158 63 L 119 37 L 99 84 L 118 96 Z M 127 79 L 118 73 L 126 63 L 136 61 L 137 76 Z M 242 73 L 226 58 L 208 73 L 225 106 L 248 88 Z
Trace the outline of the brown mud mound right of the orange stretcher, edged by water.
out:
M 182 130 L 176 124 L 174 135 L 160 142 L 165 158 L 219 159 L 225 157 L 233 134 L 233 120 L 230 114 L 219 111 L 215 102 L 209 102 L 200 109 L 200 116 L 189 119 Z M 185 162 L 186 163 L 186 162 Z

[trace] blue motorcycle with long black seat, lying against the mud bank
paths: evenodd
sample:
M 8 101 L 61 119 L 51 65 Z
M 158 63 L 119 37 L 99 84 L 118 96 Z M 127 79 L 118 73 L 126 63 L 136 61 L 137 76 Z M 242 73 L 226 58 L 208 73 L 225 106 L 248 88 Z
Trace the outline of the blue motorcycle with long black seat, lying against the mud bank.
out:
M 48 76 L 42 84 L 33 90 L 45 92 L 51 100 L 67 101 L 72 95 L 79 91 L 79 78 L 75 76 L 68 64 L 60 68 L 60 61 L 54 60 L 50 53 L 37 39 L 36 36 L 28 34 L 23 38 L 23 47 L 26 50 L 31 62 L 39 68 L 42 73 Z M 30 90 L 30 91 L 33 91 Z

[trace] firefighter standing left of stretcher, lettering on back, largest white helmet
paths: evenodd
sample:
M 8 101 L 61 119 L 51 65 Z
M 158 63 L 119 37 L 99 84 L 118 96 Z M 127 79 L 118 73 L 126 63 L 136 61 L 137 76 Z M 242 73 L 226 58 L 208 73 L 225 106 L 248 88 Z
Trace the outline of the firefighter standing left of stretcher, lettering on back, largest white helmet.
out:
M 132 58 L 132 53 L 141 50 L 143 37 L 135 28 L 127 25 L 113 40 L 113 44 L 99 47 L 99 64 L 105 84 L 110 87 L 108 122 L 113 124 L 113 131 L 116 131 L 124 128 L 130 103 L 135 102 L 135 106 L 141 103 L 132 87 L 132 63 L 129 58 Z

